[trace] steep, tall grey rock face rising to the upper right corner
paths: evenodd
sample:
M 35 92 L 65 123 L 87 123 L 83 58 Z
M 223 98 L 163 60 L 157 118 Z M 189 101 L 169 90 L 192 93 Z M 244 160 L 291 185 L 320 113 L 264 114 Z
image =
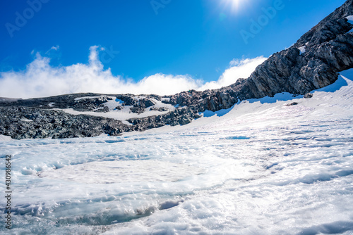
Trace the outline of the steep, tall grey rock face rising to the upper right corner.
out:
M 253 96 L 273 96 L 283 91 L 306 94 L 332 84 L 337 72 L 352 68 L 352 25 L 346 19 L 353 15 L 352 4 L 352 0 L 346 1 L 292 47 L 259 65 L 248 80 Z M 300 48 L 305 52 L 301 53 Z

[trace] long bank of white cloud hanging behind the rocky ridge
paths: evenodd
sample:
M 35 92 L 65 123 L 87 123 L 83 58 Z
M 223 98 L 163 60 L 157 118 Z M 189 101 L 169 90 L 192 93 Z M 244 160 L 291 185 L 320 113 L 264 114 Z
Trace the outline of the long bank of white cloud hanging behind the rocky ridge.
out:
M 57 50 L 59 46 L 52 49 Z M 70 94 L 78 92 L 95 92 L 102 94 L 176 94 L 189 89 L 215 89 L 234 83 L 239 77 L 249 77 L 256 65 L 265 58 L 232 61 L 219 80 L 203 84 L 201 80 L 189 75 L 155 74 L 139 82 L 114 76 L 110 69 L 104 70 L 98 56 L 102 48 L 90 47 L 89 63 L 77 63 L 70 66 L 52 67 L 50 58 L 40 53 L 24 71 L 0 72 L 0 97 L 34 98 Z

